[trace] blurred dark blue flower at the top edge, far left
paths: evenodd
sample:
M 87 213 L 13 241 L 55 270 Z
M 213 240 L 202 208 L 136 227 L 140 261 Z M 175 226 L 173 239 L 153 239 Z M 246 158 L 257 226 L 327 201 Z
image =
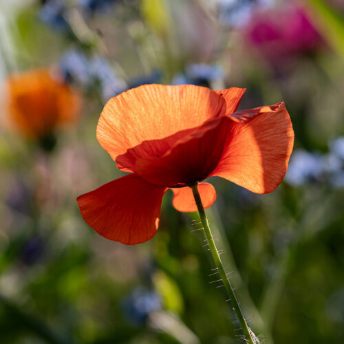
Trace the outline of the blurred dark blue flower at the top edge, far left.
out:
M 47 0 L 39 10 L 39 19 L 56 30 L 66 30 L 66 10 L 61 0 Z

